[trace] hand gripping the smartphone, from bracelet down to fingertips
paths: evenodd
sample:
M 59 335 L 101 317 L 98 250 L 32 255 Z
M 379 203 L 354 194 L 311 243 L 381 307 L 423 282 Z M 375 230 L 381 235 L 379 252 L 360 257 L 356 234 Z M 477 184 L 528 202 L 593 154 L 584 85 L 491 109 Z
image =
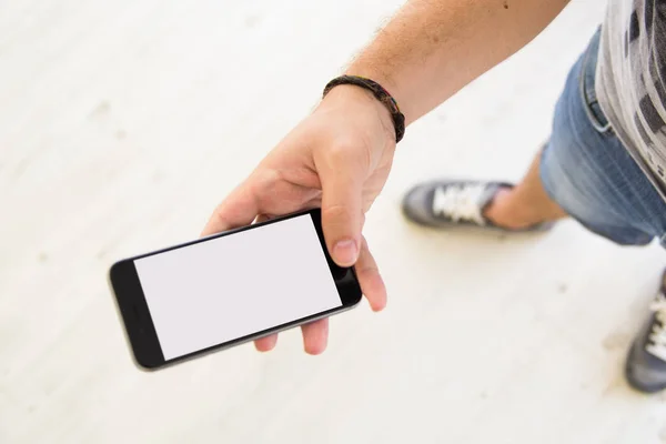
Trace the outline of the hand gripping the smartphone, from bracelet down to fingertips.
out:
M 395 130 L 384 105 L 362 88 L 336 87 L 218 205 L 202 234 L 321 206 L 331 256 L 341 266 L 356 265 L 363 294 L 380 311 L 386 289 L 361 230 L 386 182 L 394 151 Z M 307 353 L 324 351 L 327 319 L 302 331 Z M 255 346 L 270 351 L 276 341 L 274 334 L 256 340 Z

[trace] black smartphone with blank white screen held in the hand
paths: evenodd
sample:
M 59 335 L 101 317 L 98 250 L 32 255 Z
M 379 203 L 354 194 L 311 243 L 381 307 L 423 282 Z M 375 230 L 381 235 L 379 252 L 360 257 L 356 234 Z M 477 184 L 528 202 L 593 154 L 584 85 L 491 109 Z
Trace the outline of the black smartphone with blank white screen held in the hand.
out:
M 155 370 L 349 310 L 353 268 L 311 210 L 125 259 L 111 287 L 135 363 Z

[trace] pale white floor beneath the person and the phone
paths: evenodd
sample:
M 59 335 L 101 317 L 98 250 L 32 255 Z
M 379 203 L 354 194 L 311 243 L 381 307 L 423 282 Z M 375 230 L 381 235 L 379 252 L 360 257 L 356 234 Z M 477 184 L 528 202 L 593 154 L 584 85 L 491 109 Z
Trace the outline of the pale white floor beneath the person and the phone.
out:
M 335 317 L 319 357 L 293 331 L 265 355 L 133 366 L 108 266 L 195 238 L 397 4 L 0 2 L 0 443 L 666 442 L 666 396 L 622 375 L 658 246 L 398 211 L 422 179 L 521 176 L 601 1 L 410 128 L 366 225 L 384 313 Z

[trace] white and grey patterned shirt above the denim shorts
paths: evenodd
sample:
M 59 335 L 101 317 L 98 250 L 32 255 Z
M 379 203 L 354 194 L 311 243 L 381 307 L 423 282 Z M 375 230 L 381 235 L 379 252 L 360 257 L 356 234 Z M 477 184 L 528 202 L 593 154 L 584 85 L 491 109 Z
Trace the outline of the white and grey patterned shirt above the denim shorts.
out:
M 666 0 L 609 0 L 596 73 L 602 110 L 666 200 Z

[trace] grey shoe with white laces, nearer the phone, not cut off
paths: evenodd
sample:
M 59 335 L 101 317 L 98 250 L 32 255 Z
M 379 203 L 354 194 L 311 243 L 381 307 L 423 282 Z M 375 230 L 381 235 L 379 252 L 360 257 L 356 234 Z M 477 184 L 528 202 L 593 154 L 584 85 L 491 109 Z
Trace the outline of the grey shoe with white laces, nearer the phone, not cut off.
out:
M 486 208 L 502 189 L 514 185 L 504 182 L 432 181 L 414 186 L 403 200 L 403 213 L 421 225 L 450 228 L 481 226 L 509 232 L 545 231 L 552 222 L 513 230 L 498 226 L 485 218 Z

